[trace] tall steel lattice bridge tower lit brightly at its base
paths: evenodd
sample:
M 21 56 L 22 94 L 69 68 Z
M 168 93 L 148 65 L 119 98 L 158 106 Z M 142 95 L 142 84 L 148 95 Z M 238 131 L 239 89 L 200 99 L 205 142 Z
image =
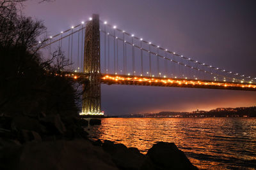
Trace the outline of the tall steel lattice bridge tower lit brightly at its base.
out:
M 86 24 L 84 38 L 84 73 L 88 80 L 83 86 L 81 115 L 103 115 L 100 108 L 100 23 L 93 14 Z

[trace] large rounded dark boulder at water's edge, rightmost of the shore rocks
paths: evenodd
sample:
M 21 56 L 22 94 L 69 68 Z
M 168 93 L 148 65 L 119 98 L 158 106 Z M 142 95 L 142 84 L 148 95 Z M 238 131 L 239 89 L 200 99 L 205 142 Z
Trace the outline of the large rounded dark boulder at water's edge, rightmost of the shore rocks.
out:
M 152 146 L 142 169 L 147 169 L 148 162 L 154 164 L 154 169 L 198 169 L 174 143 L 159 142 Z

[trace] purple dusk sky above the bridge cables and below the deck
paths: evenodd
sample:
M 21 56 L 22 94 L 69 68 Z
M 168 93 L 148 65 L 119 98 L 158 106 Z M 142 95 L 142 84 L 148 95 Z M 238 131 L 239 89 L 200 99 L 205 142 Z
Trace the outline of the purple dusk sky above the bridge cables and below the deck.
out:
M 98 13 L 101 20 L 212 66 L 256 77 L 255 1 L 29 0 L 23 14 L 57 34 Z M 256 92 L 102 85 L 106 114 L 256 106 Z

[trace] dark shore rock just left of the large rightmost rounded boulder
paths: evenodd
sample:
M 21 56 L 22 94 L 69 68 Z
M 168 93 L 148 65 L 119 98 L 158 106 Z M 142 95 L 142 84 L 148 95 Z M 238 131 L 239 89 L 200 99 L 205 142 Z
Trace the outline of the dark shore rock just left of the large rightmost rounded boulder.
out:
M 145 160 L 145 155 L 120 143 L 105 140 L 102 148 L 111 155 L 119 169 L 140 169 Z

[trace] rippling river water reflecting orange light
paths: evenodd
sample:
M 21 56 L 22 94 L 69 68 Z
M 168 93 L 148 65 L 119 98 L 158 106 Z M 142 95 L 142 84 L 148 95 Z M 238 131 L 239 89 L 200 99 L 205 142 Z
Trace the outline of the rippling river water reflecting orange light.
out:
M 200 169 L 256 168 L 256 118 L 102 118 L 89 132 L 142 153 L 174 142 Z

